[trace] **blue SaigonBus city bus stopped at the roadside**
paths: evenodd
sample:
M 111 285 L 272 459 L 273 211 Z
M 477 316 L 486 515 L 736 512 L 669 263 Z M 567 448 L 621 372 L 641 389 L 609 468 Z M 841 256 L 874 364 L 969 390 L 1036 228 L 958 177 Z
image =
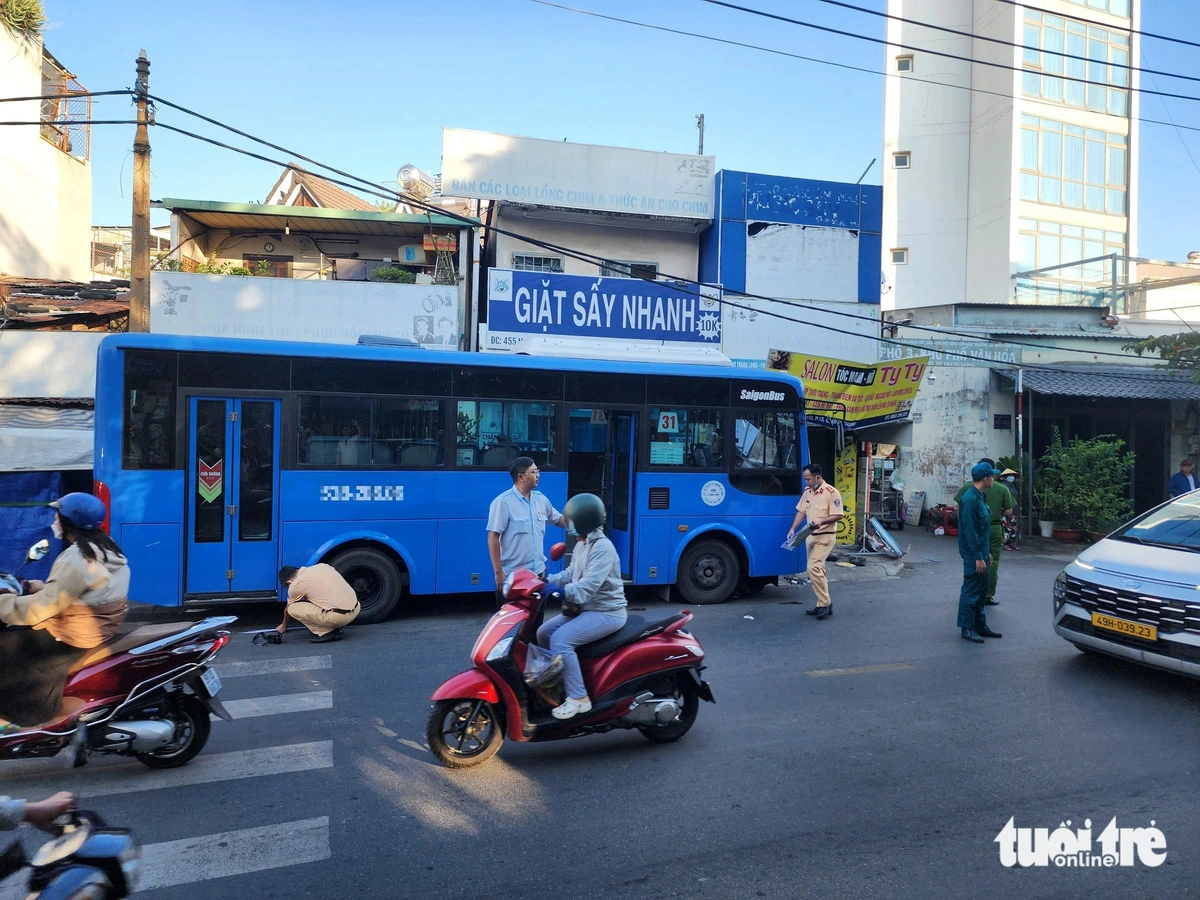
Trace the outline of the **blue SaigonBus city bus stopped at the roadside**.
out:
M 781 547 L 808 460 L 800 382 L 713 365 L 113 335 L 96 493 L 133 600 L 280 599 L 325 562 L 378 622 L 491 590 L 485 524 L 532 457 L 556 508 L 608 508 L 630 584 L 721 602 L 804 568 Z M 547 544 L 563 532 L 547 528 Z

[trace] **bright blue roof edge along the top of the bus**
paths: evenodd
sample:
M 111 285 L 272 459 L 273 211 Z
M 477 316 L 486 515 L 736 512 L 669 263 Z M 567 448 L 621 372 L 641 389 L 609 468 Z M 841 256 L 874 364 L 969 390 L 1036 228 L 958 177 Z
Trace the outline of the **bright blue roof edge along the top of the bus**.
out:
M 394 362 L 424 362 L 449 366 L 486 366 L 514 370 L 557 370 L 560 372 L 620 372 L 629 374 L 677 374 L 689 378 L 728 378 L 733 380 L 787 382 L 804 396 L 800 379 L 786 372 L 766 368 L 691 362 L 654 362 L 642 360 L 598 360 L 546 356 L 509 355 L 502 353 L 467 353 L 462 350 L 430 350 L 366 344 L 301 343 L 298 341 L 258 341 L 240 337 L 206 337 L 192 335 L 122 334 L 101 341 L 100 355 L 120 349 L 161 349 L 191 353 L 236 353 L 263 356 L 308 356 L 313 359 L 380 360 Z

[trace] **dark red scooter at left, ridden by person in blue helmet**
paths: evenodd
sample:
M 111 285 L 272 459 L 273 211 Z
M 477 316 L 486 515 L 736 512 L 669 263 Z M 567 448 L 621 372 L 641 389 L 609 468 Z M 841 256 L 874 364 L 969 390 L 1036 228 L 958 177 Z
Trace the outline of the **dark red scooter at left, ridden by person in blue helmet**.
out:
M 38 541 L 25 562 L 48 548 Z M 0 572 L 0 590 L 20 593 L 22 583 Z M 210 713 L 233 721 L 217 700 L 221 679 L 209 664 L 229 643 L 223 629 L 236 620 L 122 628 L 71 666 L 54 721 L 0 737 L 0 760 L 54 756 L 74 745 L 76 766 L 94 752 L 132 756 L 154 769 L 190 762 L 208 743 Z

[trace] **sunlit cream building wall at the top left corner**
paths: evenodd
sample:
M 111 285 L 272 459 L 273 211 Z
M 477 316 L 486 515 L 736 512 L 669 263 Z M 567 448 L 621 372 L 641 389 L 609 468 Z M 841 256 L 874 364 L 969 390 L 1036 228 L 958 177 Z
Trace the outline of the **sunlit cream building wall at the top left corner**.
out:
M 42 92 L 41 41 L 0 28 L 0 85 L 7 96 Z M 5 103 L 5 119 L 37 121 L 37 101 Z M 86 281 L 91 268 L 91 167 L 42 139 L 36 125 L 0 140 L 0 272 Z

